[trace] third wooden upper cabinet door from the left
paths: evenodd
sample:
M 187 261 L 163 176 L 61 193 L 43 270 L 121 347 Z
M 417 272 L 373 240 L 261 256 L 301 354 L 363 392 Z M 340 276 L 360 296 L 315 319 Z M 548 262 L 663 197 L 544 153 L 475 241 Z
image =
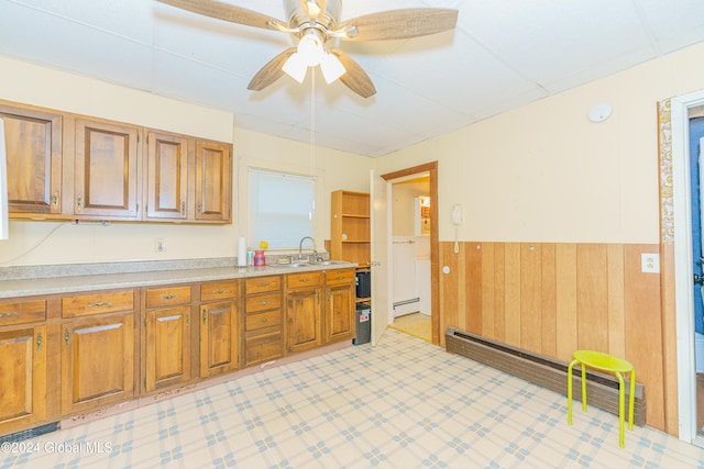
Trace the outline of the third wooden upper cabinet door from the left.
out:
M 183 136 L 150 132 L 146 136 L 145 219 L 187 220 L 188 142 Z

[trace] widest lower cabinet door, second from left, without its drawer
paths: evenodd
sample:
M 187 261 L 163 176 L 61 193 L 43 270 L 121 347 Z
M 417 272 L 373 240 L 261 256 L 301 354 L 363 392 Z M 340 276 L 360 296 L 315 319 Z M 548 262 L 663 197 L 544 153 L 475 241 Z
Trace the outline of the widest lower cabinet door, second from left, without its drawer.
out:
M 62 325 L 62 415 L 134 397 L 134 313 Z

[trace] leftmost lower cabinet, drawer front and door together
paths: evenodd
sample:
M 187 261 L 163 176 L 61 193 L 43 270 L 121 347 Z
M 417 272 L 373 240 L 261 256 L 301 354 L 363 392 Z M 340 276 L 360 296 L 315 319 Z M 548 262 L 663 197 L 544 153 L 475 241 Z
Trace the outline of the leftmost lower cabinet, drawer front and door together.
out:
M 47 417 L 46 301 L 0 303 L 0 434 Z

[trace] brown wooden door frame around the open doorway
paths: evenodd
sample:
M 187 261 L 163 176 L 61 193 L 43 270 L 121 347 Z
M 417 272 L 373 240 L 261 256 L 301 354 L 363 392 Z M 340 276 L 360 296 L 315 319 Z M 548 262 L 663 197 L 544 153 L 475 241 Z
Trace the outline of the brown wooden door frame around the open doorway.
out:
M 440 244 L 438 242 L 438 161 L 430 161 L 381 175 L 386 182 L 413 175 L 430 175 L 430 332 L 435 345 L 440 345 Z M 391 233 L 391 231 L 389 231 Z M 386 242 L 386 241 L 385 241 Z M 391 270 L 389 270 L 391 271 Z

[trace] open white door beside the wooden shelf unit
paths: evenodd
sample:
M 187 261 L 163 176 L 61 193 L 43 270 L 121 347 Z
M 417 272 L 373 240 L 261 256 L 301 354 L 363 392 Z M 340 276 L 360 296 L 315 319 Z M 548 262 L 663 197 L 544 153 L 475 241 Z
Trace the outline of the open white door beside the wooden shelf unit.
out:
M 376 346 L 388 326 L 388 213 L 387 182 L 372 170 L 370 203 L 372 242 L 372 346 Z

